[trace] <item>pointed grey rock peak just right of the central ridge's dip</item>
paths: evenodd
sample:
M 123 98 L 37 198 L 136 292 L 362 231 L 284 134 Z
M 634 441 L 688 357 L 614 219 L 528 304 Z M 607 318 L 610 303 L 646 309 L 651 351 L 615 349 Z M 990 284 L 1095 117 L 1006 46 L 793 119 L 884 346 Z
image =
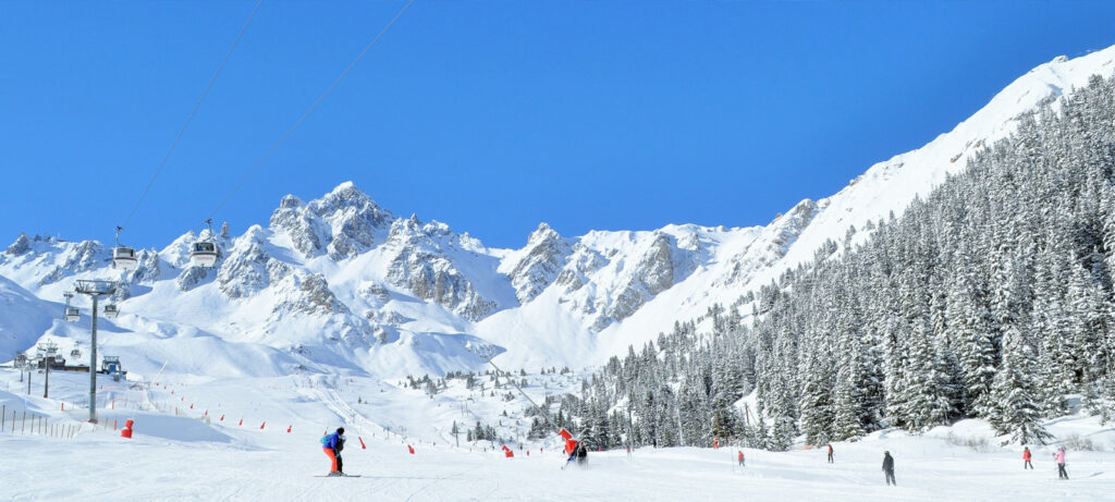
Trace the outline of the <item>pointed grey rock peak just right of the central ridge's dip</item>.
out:
M 531 233 L 526 249 L 508 274 L 520 303 L 533 300 L 558 279 L 572 253 L 570 245 L 545 223 Z

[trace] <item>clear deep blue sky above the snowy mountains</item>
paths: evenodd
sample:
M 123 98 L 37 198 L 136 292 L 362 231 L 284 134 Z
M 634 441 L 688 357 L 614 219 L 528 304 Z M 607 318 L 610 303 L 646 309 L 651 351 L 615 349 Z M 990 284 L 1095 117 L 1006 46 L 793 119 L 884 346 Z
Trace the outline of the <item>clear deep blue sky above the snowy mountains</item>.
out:
M 254 3 L 0 3 L 0 240 L 112 242 Z M 404 3 L 265 0 L 125 242 L 196 230 Z M 216 220 L 352 180 L 494 247 L 765 224 L 1113 44 L 1115 2 L 417 0 Z

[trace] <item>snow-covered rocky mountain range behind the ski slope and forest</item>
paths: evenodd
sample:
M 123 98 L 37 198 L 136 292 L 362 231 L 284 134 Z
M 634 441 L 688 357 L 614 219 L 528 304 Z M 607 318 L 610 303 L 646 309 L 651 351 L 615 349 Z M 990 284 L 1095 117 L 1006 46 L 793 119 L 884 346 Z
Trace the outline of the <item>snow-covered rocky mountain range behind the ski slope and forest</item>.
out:
M 599 364 L 715 302 L 731 303 L 830 241 L 836 250 L 857 242 L 869 222 L 963 170 L 1020 115 L 1113 69 L 1115 48 L 1041 65 L 953 131 L 766 226 L 563 236 L 542 223 L 523 248 L 492 249 L 444 223 L 397 216 L 347 182 L 309 202 L 282 197 L 266 228 L 234 235 L 225 225 L 138 250 L 130 272 L 112 269 L 101 243 L 20 235 L 0 255 L 0 298 L 25 306 L 0 316 L 0 359 L 43 334 L 65 336 L 51 320 L 60 307 L 46 301 L 59 301 L 75 279 L 108 278 L 123 284 L 114 329 L 149 350 L 167 339 L 243 349 L 261 361 L 254 373 L 442 373 L 478 367 L 477 353 L 511 367 Z M 216 268 L 191 267 L 191 244 L 210 238 L 222 251 Z

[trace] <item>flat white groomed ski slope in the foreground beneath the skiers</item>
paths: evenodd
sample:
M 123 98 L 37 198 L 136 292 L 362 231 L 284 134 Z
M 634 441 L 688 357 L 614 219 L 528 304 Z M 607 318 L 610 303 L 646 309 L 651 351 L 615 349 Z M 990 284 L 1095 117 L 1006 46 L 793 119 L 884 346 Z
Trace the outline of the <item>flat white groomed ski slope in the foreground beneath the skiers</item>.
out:
M 41 377 L 33 376 L 36 396 L 41 396 Z M 23 409 L 48 416 L 55 425 L 78 425 L 87 416 L 86 409 L 70 407 L 79 406 L 88 393 L 88 375 L 54 373 L 51 399 L 28 397 L 18 378 L 18 371 L 0 369 L 6 419 L 12 411 Z M 546 378 L 553 383 L 550 389 L 534 385 Z M 730 446 L 644 447 L 631 456 L 624 451 L 592 452 L 586 466 L 562 470 L 564 455 L 555 450 L 555 438 L 510 443 L 514 458 L 504 457 L 497 444 L 467 443 L 463 435 L 460 446 L 455 445 L 446 426 L 450 419 L 467 427 L 476 416 L 485 421 L 502 416 L 501 408 L 513 409 L 503 418 L 505 425 L 515 419 L 514 411 L 522 411 L 525 403 L 502 399 L 506 389 L 485 399 L 484 392 L 469 395 L 456 385 L 430 397 L 391 382 L 320 375 L 200 382 L 171 374 L 161 379 L 166 383 L 140 389 L 133 388 L 133 382 L 101 378 L 98 400 L 115 402 L 116 409 L 99 411 L 103 427 L 84 425 L 74 438 L 20 434 L 18 427 L 12 434 L 9 422 L 0 433 L 0 451 L 10 460 L 0 463 L 2 498 L 1098 501 L 1111 500 L 1115 490 L 1115 428 L 1084 416 L 1047 425 L 1060 437 L 1078 433 L 1093 447 L 1105 450 L 1069 448 L 1069 481 L 1057 480 L 1053 446 L 1035 447 L 1036 470 L 1024 471 L 1018 447 L 1000 448 L 991 442 L 975 451 L 962 445 L 968 438 L 990 440 L 990 429 L 979 421 L 923 436 L 882 431 L 859 442 L 836 443 L 834 464 L 827 464 L 820 450 L 746 448 L 747 465 L 739 467 L 737 448 Z M 563 383 L 578 377 L 529 375 L 527 379 L 527 393 L 541 398 L 546 392 L 563 390 Z M 67 412 L 61 411 L 62 403 Z M 110 423 L 123 424 L 129 417 L 136 422 L 135 434 L 124 440 Z M 349 440 L 345 470 L 362 477 L 313 477 L 328 471 L 318 438 L 340 425 Z M 512 428 L 501 428 L 501 435 L 512 434 Z M 408 453 L 408 444 L 415 454 Z M 884 450 L 895 457 L 898 486 L 883 483 Z

